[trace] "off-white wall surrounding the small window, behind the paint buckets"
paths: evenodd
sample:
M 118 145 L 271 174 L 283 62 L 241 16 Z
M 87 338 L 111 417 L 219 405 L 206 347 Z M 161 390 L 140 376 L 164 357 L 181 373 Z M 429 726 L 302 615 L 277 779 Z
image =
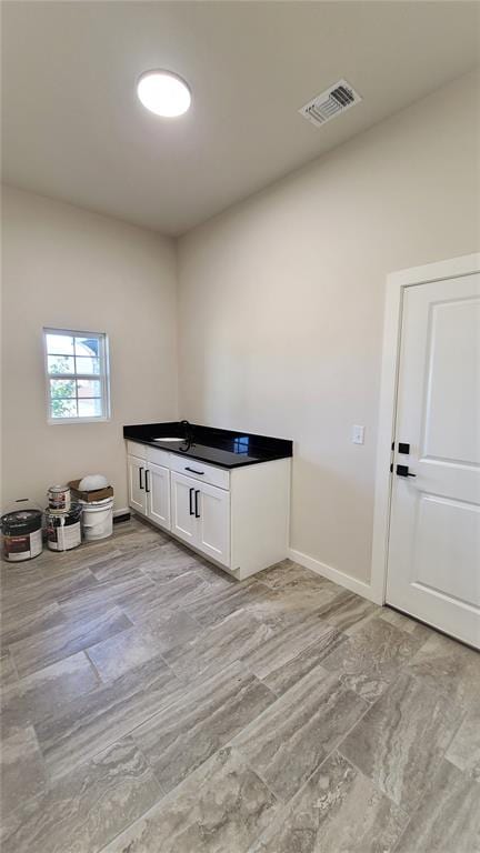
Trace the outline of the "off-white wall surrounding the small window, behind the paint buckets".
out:
M 2 260 L 2 505 L 99 471 L 123 508 L 123 424 L 178 417 L 174 243 L 4 188 Z M 109 423 L 47 424 L 44 325 L 108 333 Z

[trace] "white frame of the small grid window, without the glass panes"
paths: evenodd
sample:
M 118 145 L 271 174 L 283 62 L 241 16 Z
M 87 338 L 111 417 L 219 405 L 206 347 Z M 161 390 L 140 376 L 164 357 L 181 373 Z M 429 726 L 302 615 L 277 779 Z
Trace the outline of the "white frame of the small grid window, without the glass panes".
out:
M 100 373 L 50 373 L 48 367 L 47 335 L 59 334 L 69 338 L 97 338 L 99 340 L 99 362 Z M 44 358 L 44 378 L 46 378 L 46 400 L 47 400 L 47 422 L 49 424 L 72 424 L 72 423 L 107 423 L 110 421 L 110 363 L 109 363 L 109 340 L 106 332 L 79 331 L 73 329 L 60 329 L 53 327 L 43 328 L 43 358 Z M 77 365 L 76 365 L 77 367 Z M 100 381 L 100 398 L 102 400 L 103 414 L 90 418 L 52 418 L 51 417 L 51 379 L 94 379 Z

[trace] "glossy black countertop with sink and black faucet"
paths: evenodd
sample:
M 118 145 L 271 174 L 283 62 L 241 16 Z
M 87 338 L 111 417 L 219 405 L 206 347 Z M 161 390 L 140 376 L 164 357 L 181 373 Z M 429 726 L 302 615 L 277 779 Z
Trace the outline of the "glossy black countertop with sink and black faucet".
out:
M 293 455 L 293 442 L 288 439 L 217 430 L 196 423 L 187 426 L 182 421 L 123 426 L 123 438 L 228 469 Z M 177 444 L 162 441 L 162 438 L 178 438 L 180 441 Z

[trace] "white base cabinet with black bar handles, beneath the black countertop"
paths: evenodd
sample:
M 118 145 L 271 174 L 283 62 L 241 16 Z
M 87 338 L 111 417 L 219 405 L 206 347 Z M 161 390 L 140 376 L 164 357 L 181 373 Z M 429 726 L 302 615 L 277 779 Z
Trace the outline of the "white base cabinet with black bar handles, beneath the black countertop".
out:
M 283 560 L 290 459 L 223 469 L 127 442 L 129 504 L 239 580 Z

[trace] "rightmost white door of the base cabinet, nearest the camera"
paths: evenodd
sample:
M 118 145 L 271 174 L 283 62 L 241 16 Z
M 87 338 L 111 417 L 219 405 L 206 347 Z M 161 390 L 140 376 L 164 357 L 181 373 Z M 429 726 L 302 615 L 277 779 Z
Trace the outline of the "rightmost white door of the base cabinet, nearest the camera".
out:
M 197 548 L 230 566 L 230 492 L 207 483 L 196 485 Z

